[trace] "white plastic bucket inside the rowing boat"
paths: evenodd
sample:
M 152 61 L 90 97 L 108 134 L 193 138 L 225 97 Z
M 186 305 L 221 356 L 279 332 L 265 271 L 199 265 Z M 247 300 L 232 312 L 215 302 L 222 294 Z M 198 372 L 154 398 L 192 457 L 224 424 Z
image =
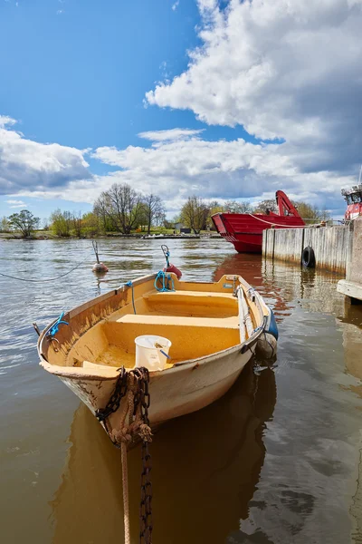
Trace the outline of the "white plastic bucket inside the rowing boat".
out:
M 163 336 L 142 335 L 135 338 L 136 366 L 146 366 L 148 370 L 163 370 L 171 342 Z M 160 347 L 156 347 L 160 346 Z M 161 353 L 163 351 L 166 355 Z

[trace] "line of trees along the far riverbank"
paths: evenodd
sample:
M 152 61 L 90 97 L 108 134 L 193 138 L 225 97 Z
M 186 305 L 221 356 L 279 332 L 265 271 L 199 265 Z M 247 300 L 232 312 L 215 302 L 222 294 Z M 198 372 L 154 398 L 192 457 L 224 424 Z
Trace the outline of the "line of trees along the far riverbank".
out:
M 319 210 L 305 202 L 293 202 L 302 218 L 310 222 L 330 219 L 326 210 Z M 228 200 L 207 201 L 190 196 L 173 222 L 166 219 L 165 204 L 154 193 L 147 195 L 132 189 L 128 183 L 114 183 L 103 191 L 94 202 L 93 210 L 87 213 L 62 211 L 55 209 L 49 219 L 43 219 L 43 230 L 50 230 L 53 235 L 62 238 L 93 237 L 108 232 L 130 234 L 131 232 L 150 233 L 151 228 L 175 228 L 180 222 L 195 234 L 201 230 L 214 228 L 212 216 L 217 212 L 266 213 L 277 211 L 275 200 L 262 200 L 252 207 L 249 202 Z M 24 238 L 40 228 L 41 220 L 27 209 L 14 213 L 0 220 L 3 232 L 18 231 Z

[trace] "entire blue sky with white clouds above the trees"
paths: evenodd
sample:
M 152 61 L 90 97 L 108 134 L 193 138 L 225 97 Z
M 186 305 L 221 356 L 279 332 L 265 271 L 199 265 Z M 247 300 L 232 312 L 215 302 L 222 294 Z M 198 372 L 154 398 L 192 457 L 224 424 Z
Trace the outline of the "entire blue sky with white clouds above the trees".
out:
M 114 181 L 171 216 L 188 194 L 275 189 L 342 213 L 361 17 L 342 0 L 0 0 L 0 216 L 86 211 Z

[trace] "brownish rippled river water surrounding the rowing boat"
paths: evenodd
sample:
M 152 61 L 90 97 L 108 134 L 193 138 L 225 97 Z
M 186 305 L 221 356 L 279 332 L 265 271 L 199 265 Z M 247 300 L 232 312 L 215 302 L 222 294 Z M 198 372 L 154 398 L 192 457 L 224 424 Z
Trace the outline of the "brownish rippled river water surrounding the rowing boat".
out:
M 362 307 L 338 277 L 263 263 L 224 240 L 167 240 L 185 279 L 238 272 L 273 306 L 277 365 L 247 367 L 217 403 L 155 437 L 155 544 L 362 543 Z M 163 265 L 159 240 L 0 241 L 0 527 L 5 544 L 123 542 L 119 451 L 88 410 L 38 365 L 32 321 Z M 138 542 L 140 452 L 129 453 Z

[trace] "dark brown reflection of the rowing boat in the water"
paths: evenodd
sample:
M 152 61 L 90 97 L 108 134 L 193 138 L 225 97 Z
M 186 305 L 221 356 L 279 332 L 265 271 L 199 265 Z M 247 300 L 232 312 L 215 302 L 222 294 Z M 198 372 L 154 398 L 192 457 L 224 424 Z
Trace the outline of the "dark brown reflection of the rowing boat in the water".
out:
M 151 399 L 152 402 L 152 399 Z M 224 542 L 248 516 L 264 461 L 263 431 L 276 402 L 275 376 L 249 364 L 216 403 L 162 427 L 152 443 L 154 540 Z M 122 542 L 120 452 L 94 416 L 74 413 L 62 483 L 52 500 L 53 544 Z M 139 447 L 129 452 L 131 534 L 138 542 Z

